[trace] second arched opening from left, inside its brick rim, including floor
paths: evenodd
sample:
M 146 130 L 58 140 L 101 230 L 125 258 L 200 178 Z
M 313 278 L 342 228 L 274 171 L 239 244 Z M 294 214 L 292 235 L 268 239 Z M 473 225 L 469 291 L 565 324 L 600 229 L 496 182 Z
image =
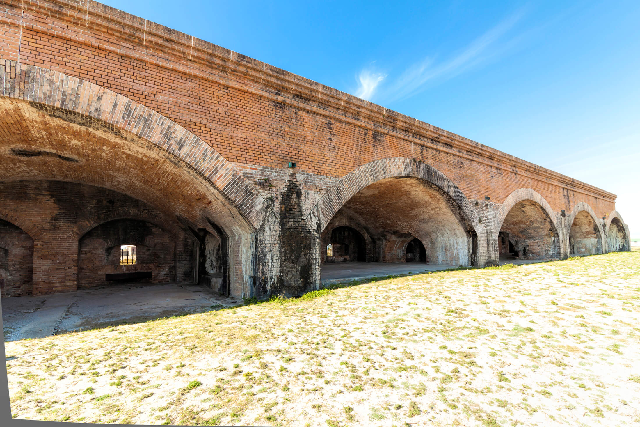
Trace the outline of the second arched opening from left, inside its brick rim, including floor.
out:
M 397 160 L 394 159 L 394 162 Z M 439 172 L 429 166 L 406 166 L 424 168 L 424 174 L 429 179 L 445 181 L 440 175 L 436 180 L 434 175 Z M 422 170 L 412 173 L 419 175 Z M 345 182 L 353 181 L 355 178 L 345 179 Z M 447 188 L 455 194 L 453 184 L 447 185 Z M 337 280 L 338 277 L 472 266 L 477 262 L 477 235 L 466 211 L 449 192 L 419 176 L 387 177 L 364 186 L 336 209 L 327 229 L 335 227 L 337 223 L 358 229 L 358 233 L 364 237 L 367 264 L 345 265 L 342 270 L 344 277 L 340 277 L 339 266 L 325 263 L 322 268 L 323 282 Z M 327 233 L 327 229 L 324 233 Z M 369 239 L 371 243 L 368 243 Z M 344 245 L 349 245 L 349 259 L 353 259 L 352 246 L 356 242 L 360 240 L 323 241 L 323 255 L 328 255 L 329 244 L 334 259 L 347 250 Z M 360 254 L 362 243 L 356 246 Z M 415 266 L 410 266 L 416 262 L 424 263 L 424 267 L 416 270 Z

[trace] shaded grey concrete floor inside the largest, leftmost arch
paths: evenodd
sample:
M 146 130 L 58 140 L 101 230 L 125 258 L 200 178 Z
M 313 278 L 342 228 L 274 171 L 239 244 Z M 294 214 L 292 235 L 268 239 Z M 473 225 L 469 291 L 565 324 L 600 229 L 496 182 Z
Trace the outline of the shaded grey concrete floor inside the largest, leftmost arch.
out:
M 2 298 L 4 341 L 205 312 L 239 303 L 242 300 L 186 284 L 128 284 Z

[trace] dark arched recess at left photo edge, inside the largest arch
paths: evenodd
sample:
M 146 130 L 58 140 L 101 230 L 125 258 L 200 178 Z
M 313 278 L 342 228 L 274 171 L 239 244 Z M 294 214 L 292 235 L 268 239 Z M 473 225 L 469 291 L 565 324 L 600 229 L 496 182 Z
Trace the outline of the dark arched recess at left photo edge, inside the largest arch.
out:
M 31 294 L 33 239 L 10 222 L 0 220 L 0 295 Z

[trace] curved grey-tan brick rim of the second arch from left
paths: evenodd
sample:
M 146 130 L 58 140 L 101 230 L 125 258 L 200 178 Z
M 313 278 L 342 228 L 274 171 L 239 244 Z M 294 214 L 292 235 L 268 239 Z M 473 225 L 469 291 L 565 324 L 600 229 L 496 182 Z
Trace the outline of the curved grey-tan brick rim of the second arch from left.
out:
M 460 206 L 474 227 L 476 234 L 478 236 L 484 234 L 476 211 L 451 179 L 433 166 L 406 157 L 390 157 L 366 163 L 333 184 L 318 202 L 321 229 L 326 227 L 333 215 L 340 210 L 340 207 L 356 193 L 374 182 L 396 177 L 424 179 L 442 189 Z

